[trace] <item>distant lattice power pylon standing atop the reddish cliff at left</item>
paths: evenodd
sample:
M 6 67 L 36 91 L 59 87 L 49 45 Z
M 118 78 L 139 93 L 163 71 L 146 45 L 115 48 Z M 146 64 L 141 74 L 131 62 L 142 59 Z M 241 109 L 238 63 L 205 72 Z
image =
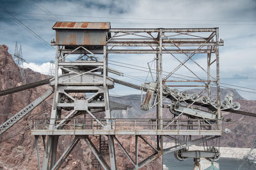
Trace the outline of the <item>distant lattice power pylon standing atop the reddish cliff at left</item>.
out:
M 25 79 L 25 72 L 24 72 L 24 68 L 23 68 L 23 62 L 26 62 L 26 61 L 22 57 L 21 45 L 20 45 L 20 49 L 18 49 L 18 43 L 17 42 L 15 43 L 15 52 L 13 54 L 13 60 L 19 66 L 22 79 L 25 81 L 26 79 Z

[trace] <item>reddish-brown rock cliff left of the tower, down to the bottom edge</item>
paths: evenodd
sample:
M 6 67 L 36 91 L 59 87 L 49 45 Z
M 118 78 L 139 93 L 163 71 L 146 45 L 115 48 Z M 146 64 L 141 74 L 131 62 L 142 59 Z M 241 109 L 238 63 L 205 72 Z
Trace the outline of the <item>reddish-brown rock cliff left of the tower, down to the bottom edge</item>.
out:
M 8 53 L 8 47 L 0 45 L 0 90 L 48 77 L 28 68 L 24 72 L 26 79 L 22 79 L 20 68 Z M 0 97 L 0 123 L 8 120 L 49 88 L 51 87 L 45 85 Z M 0 148 L 0 169 L 36 169 L 35 140 L 29 132 L 29 119 L 44 116 L 45 112 L 51 111 L 48 103 L 51 103 L 51 97 L 1 135 L 3 143 Z

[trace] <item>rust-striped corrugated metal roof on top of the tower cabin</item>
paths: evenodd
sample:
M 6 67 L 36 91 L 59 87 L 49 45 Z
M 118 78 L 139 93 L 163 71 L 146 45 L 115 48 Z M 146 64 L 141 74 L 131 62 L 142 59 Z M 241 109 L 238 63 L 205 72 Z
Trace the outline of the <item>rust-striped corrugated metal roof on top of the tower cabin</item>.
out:
M 56 22 L 52 29 L 109 29 L 110 22 Z

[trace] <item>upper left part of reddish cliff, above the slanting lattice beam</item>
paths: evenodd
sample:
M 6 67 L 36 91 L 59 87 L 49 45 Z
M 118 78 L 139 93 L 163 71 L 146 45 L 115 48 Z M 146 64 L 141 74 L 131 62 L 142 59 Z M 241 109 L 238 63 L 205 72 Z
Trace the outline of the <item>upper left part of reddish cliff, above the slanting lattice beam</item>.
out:
M 48 77 L 47 75 L 33 72 L 29 68 L 25 69 L 24 72 L 26 80 L 22 79 L 20 68 L 14 63 L 12 56 L 8 53 L 8 47 L 0 45 L 0 90 L 20 86 L 24 82 L 39 81 Z M 20 111 L 20 109 L 37 97 L 40 97 L 49 88 L 49 86 L 42 86 L 0 97 L 0 123 L 10 118 L 10 114 Z

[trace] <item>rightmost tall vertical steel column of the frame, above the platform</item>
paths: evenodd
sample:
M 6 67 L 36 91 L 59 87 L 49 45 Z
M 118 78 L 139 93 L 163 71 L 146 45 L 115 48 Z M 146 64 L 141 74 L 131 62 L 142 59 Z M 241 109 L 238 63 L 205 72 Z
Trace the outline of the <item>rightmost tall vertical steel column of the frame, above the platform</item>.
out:
M 219 56 L 219 28 L 216 28 L 216 87 L 217 87 L 217 118 L 218 130 L 221 130 L 221 112 L 220 112 L 220 56 Z

